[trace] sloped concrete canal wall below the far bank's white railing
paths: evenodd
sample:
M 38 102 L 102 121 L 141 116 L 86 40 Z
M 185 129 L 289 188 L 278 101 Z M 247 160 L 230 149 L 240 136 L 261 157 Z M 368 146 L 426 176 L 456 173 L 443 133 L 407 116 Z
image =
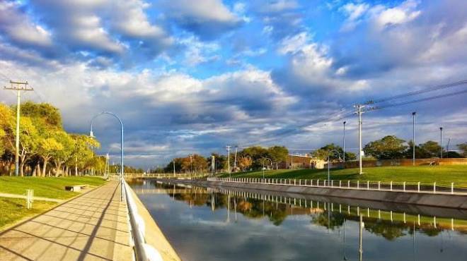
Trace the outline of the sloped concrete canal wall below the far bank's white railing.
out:
M 166 180 L 174 181 L 174 180 Z M 318 195 L 332 198 L 347 198 L 353 200 L 371 200 L 402 204 L 423 205 L 430 207 L 448 207 L 467 210 L 467 195 L 446 195 L 432 193 L 411 193 L 377 190 L 352 190 L 345 188 L 316 188 L 305 186 L 287 186 L 260 183 L 236 183 L 204 180 L 176 180 L 178 183 L 189 183 L 196 186 L 222 186 L 226 188 L 241 188 L 251 190 L 267 190 L 280 193 Z

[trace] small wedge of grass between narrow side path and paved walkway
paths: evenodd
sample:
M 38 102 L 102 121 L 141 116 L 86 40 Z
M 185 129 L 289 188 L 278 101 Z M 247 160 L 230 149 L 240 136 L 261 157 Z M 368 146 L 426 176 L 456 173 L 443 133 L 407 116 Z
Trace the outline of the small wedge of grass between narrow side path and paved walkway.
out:
M 0 198 L 0 231 L 8 224 L 34 214 L 40 214 L 57 205 L 54 202 L 36 200 L 33 202 L 33 208 L 28 210 L 25 204 L 26 200 L 19 198 Z

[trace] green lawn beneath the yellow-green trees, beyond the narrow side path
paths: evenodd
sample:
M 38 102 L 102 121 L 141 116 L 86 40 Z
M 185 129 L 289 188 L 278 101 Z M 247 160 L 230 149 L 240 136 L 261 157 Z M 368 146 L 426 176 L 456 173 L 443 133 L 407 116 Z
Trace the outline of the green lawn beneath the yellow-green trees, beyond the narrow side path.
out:
M 100 186 L 105 181 L 101 177 L 71 176 L 59 178 L 40 177 L 0 177 L 0 193 L 25 195 L 27 189 L 33 189 L 36 197 L 67 199 L 79 193 L 65 190 L 65 186 L 88 184 Z

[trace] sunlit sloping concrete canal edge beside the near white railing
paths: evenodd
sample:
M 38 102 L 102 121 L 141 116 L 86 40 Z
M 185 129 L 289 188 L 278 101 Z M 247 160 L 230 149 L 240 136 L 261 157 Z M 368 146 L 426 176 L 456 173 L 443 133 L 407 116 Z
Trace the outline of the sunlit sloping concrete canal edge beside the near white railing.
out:
M 134 190 L 131 187 L 129 187 L 129 190 L 131 191 L 137 205 L 138 213 L 144 220 L 144 238 L 146 238 L 146 243 L 158 250 L 158 253 L 161 254 L 163 260 L 180 261 L 180 257 L 175 252 L 175 249 L 173 249 L 171 243 L 168 242 L 161 229 L 159 229 L 156 221 L 149 213 L 149 210 L 147 210 L 142 201 L 139 200 L 138 195 L 134 193 Z

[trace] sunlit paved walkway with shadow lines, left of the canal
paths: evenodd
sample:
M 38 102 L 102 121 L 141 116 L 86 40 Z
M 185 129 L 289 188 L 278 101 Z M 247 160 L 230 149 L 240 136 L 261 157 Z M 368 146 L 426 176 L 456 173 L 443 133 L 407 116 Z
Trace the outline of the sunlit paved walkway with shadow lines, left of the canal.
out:
M 0 260 L 132 260 L 128 229 L 111 181 L 0 233 Z

